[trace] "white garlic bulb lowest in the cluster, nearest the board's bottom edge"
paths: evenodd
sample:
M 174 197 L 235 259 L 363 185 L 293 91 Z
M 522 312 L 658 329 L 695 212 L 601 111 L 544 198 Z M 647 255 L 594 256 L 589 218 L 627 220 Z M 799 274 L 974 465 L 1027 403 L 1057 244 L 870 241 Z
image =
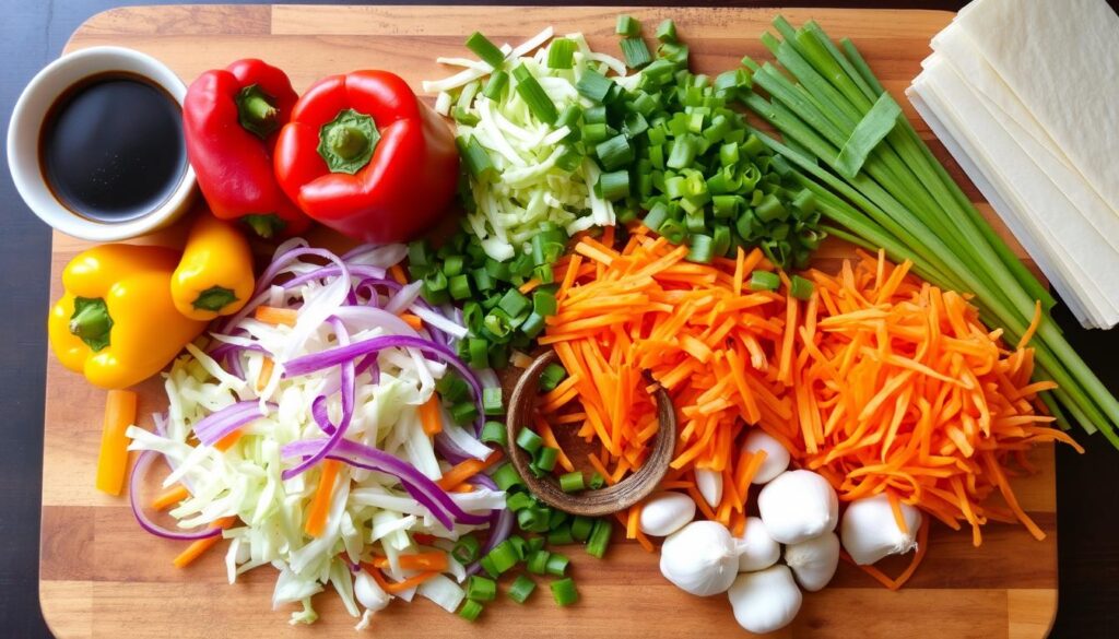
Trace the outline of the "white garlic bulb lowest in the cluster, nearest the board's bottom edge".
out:
M 789 566 L 742 573 L 727 592 L 739 626 L 759 635 L 784 628 L 800 612 L 803 595 Z

